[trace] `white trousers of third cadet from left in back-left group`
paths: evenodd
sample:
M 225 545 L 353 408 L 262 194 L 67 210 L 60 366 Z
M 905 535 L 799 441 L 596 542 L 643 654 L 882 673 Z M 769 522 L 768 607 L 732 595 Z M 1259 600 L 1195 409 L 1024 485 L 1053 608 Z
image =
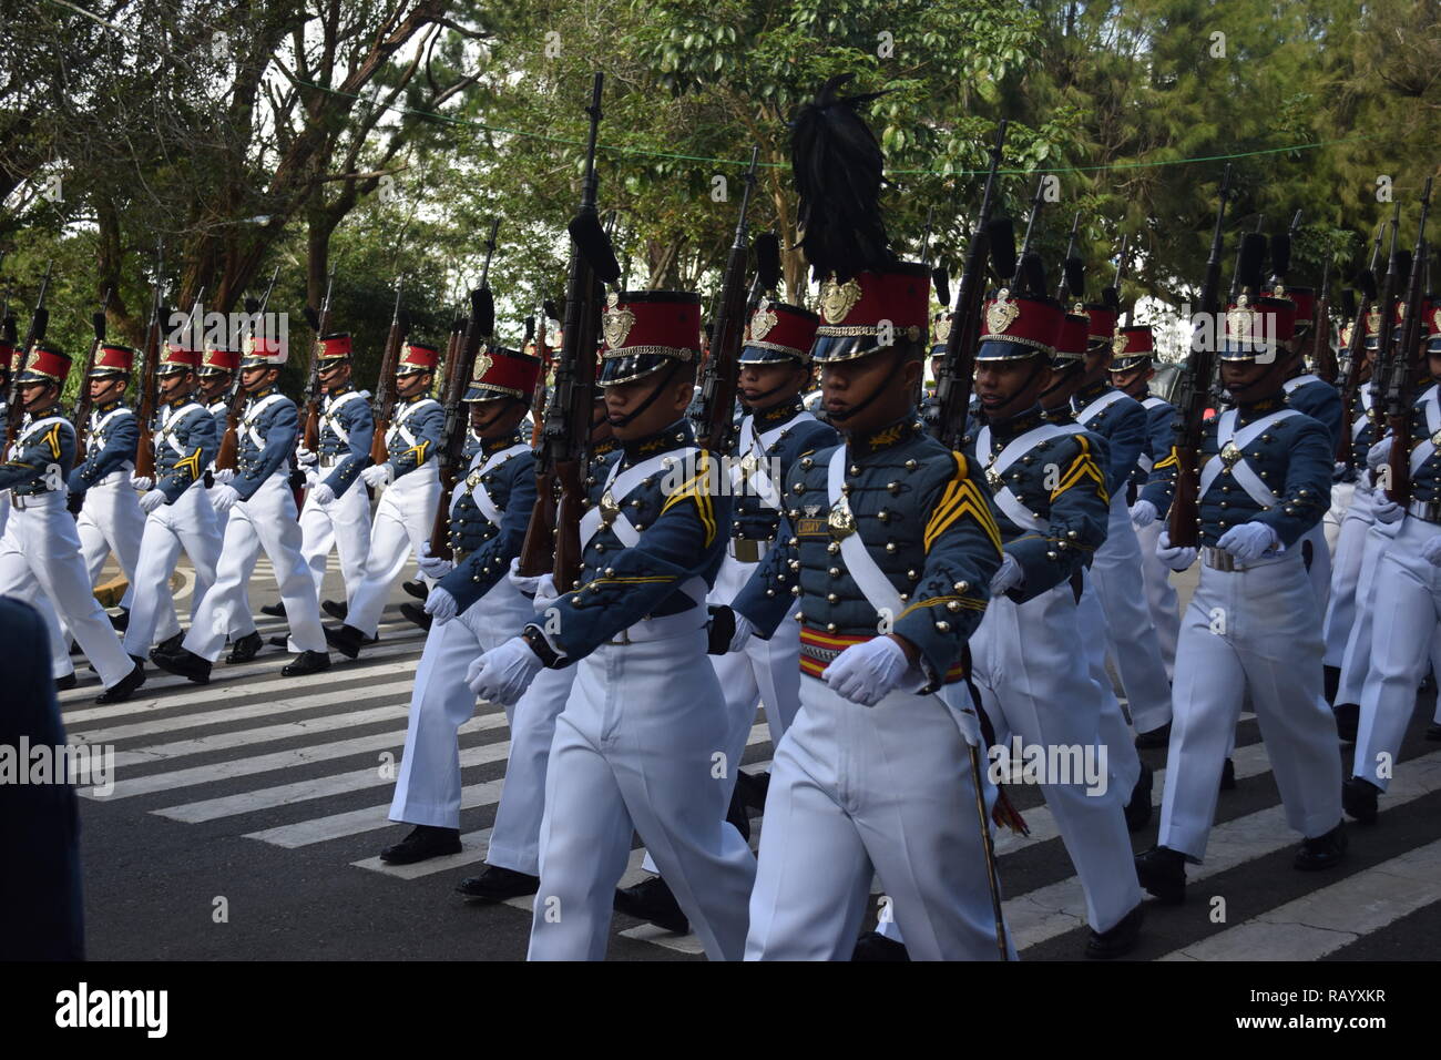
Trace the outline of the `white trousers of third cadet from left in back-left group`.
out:
M 190 624 L 195 624 L 200 601 L 215 584 L 215 567 L 220 560 L 215 509 L 200 482 L 176 498 L 173 505 L 160 505 L 146 518 L 140 560 L 135 564 L 135 597 L 130 606 L 130 624 L 125 627 L 125 650 L 131 655 L 144 658 L 154 643 L 180 632 L 170 594 L 170 574 L 182 548 L 195 567 L 195 590 L 190 594 Z

